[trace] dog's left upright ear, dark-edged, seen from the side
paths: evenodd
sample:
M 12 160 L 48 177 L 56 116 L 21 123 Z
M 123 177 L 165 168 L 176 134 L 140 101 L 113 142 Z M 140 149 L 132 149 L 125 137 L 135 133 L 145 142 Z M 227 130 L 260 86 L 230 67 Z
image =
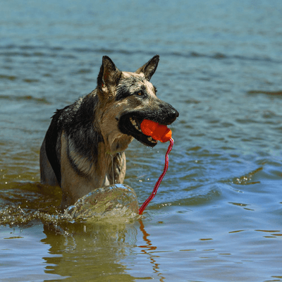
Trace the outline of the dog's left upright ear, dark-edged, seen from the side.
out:
M 97 78 L 97 87 L 100 92 L 108 95 L 114 94 L 114 88 L 121 78 L 121 71 L 108 56 L 103 56 L 102 66 Z

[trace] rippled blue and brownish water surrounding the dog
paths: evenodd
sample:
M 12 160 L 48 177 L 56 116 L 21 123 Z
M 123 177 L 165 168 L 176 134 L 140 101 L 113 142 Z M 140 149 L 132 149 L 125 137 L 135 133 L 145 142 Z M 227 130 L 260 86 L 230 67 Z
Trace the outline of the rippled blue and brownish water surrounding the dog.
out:
M 282 3 L 2 1 L 1 281 L 282 281 Z M 39 184 L 56 109 L 96 87 L 102 56 L 152 82 L 180 116 L 168 173 L 142 219 L 85 222 Z M 139 204 L 166 144 L 134 141 Z

